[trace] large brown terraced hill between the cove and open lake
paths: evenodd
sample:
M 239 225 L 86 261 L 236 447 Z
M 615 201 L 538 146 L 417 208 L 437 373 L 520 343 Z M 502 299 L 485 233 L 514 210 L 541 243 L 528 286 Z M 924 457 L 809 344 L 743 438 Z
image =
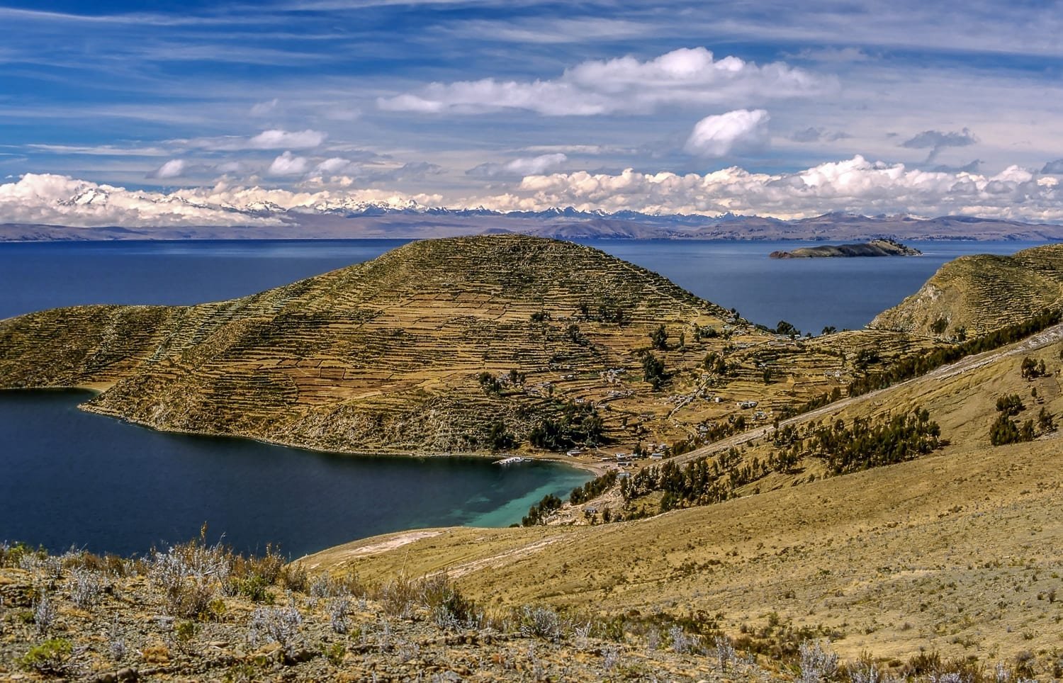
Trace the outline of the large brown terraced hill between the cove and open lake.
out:
M 776 337 L 596 250 L 492 236 L 229 302 L 2 321 L 0 387 L 88 386 L 86 409 L 155 428 L 335 451 L 631 448 L 753 420 L 743 400 L 770 421 L 868 344 L 911 346 Z

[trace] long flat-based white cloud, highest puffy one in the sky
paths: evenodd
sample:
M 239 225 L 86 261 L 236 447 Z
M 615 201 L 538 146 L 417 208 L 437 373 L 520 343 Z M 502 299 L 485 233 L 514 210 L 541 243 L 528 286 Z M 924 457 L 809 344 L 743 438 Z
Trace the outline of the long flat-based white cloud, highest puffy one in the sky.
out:
M 808 97 L 833 86 L 781 62 L 759 66 L 705 48 L 682 48 L 655 59 L 590 61 L 547 81 L 433 83 L 417 92 L 381 98 L 377 106 L 421 114 L 483 114 L 525 109 L 543 116 L 647 114 L 670 105 L 742 104 Z

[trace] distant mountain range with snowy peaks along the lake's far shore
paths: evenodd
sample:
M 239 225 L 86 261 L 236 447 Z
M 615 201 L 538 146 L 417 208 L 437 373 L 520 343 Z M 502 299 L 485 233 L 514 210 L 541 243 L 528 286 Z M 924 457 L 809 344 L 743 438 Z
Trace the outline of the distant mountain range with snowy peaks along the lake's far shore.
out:
M 64 200 L 64 205 L 94 206 L 107 202 L 92 189 Z M 184 199 L 169 203 L 199 206 Z M 749 240 L 1063 240 L 1063 225 L 1006 219 L 943 216 L 875 216 L 824 214 L 781 220 L 760 216 L 609 214 L 573 207 L 502 212 L 484 207 L 428 207 L 416 202 L 339 200 L 284 208 L 270 202 L 213 208 L 234 215 L 231 226 L 74 227 L 53 224 L 0 223 L 0 241 L 115 239 L 422 239 L 516 233 L 556 239 L 749 239 Z M 175 207 L 176 211 L 180 207 Z M 267 219 L 264 223 L 264 219 Z M 0 217 L 2 221 L 2 217 Z

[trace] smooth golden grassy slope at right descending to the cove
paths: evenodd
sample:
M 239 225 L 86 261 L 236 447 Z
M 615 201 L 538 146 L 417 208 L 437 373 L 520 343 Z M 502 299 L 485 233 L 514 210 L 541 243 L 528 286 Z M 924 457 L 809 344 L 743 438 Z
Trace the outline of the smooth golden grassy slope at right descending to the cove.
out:
M 491 604 L 693 615 L 754 651 L 796 632 L 883 664 L 919 652 L 1018 658 L 1059 678 L 1063 441 L 1054 427 L 1011 445 L 993 446 L 990 434 L 1003 396 L 1018 397 L 1017 423 L 1036 424 L 1042 409 L 1058 419 L 1061 351 L 1054 341 L 991 353 L 964 372 L 809 419 L 850 424 L 926 410 L 948 444 L 908 462 L 829 476 L 821 456 L 807 455 L 781 488 L 749 485 L 722 503 L 590 527 L 393 534 L 311 556 L 307 566 L 367 578 L 445 571 Z M 1024 372 L 1026 359 L 1044 370 Z M 763 461 L 773 447 L 758 439 L 742 457 Z

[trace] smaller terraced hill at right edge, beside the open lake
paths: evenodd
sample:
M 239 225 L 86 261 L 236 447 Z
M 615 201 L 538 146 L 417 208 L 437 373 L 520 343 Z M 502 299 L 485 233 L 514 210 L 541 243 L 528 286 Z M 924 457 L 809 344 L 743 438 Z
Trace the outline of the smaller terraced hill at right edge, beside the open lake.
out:
M 1063 300 L 1063 244 L 1012 256 L 962 256 L 915 294 L 879 313 L 871 327 L 942 338 L 992 331 Z

